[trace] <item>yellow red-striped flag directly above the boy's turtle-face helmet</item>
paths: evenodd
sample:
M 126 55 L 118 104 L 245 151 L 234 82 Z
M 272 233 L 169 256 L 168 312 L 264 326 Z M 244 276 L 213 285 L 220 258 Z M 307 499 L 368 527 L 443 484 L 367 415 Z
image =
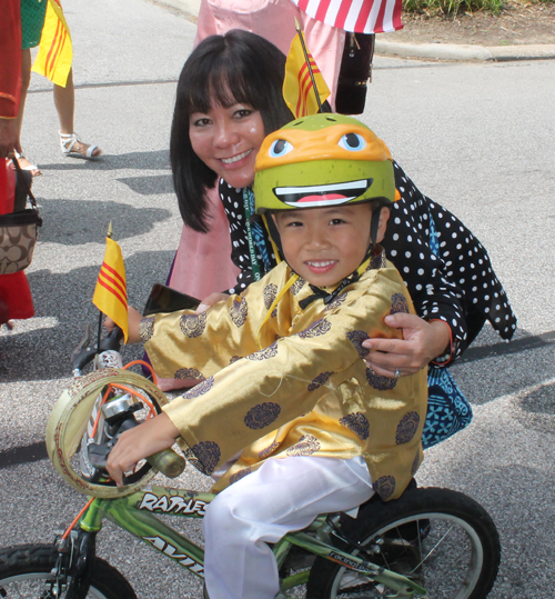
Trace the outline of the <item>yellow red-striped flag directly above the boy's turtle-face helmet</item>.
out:
M 299 34 L 291 42 L 291 49 L 285 63 L 285 79 L 283 81 L 283 98 L 291 112 L 295 116 L 295 119 L 306 117 L 307 114 L 316 114 L 320 108 L 316 90 L 314 90 L 304 56 L 301 36 L 302 33 L 299 31 Z M 330 96 L 330 89 L 309 49 L 306 49 L 306 53 L 316 83 L 320 102 L 323 102 Z

